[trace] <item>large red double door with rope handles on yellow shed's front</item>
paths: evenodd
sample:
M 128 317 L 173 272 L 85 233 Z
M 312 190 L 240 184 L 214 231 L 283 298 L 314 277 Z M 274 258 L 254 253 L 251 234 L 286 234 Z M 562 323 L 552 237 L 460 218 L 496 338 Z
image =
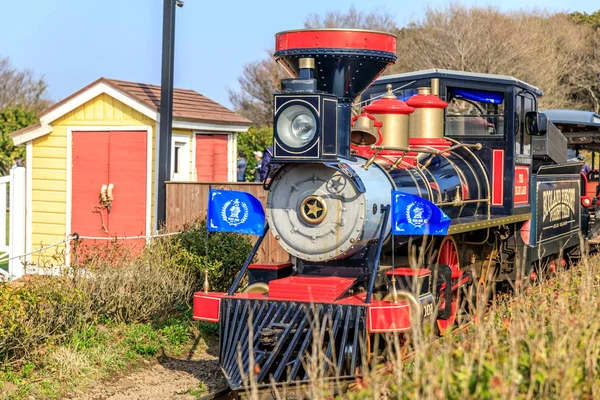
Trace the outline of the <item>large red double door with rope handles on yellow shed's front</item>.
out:
M 76 131 L 72 154 L 71 232 L 90 237 L 144 235 L 147 132 Z M 107 212 L 97 206 L 102 185 L 111 183 L 114 200 Z M 123 244 L 140 248 L 143 243 Z

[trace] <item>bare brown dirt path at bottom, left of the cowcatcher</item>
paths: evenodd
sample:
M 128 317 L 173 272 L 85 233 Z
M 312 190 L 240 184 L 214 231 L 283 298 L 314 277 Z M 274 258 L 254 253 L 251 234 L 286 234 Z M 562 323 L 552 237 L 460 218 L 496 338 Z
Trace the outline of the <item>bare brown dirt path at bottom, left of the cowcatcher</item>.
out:
M 196 399 L 201 382 L 209 391 L 225 386 L 217 358 L 218 341 L 192 348 L 181 357 L 162 355 L 130 374 L 93 382 L 73 393 L 75 400 Z

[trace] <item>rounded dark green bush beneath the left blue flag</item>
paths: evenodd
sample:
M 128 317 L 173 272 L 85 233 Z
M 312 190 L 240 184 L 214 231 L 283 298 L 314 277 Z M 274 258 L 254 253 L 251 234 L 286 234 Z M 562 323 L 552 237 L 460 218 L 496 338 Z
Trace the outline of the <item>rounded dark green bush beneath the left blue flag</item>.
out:
M 200 285 L 204 282 L 206 237 L 206 221 L 195 222 L 174 239 L 173 245 L 175 262 L 195 268 Z M 208 275 L 211 290 L 227 291 L 251 250 L 252 242 L 248 236 L 210 232 Z

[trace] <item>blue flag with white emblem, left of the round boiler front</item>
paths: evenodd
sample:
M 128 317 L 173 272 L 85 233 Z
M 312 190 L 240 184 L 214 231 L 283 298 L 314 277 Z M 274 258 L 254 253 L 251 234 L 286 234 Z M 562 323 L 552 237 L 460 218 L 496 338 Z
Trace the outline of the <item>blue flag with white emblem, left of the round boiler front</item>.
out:
M 210 189 L 208 192 L 209 232 L 235 232 L 262 235 L 265 212 L 262 203 L 250 193 Z

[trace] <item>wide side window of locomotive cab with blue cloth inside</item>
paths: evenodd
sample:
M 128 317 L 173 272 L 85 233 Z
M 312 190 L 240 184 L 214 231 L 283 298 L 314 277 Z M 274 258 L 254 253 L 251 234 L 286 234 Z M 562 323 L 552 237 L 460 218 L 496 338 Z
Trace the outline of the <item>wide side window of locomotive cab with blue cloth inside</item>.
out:
M 504 135 L 504 93 L 449 87 L 446 135 Z

